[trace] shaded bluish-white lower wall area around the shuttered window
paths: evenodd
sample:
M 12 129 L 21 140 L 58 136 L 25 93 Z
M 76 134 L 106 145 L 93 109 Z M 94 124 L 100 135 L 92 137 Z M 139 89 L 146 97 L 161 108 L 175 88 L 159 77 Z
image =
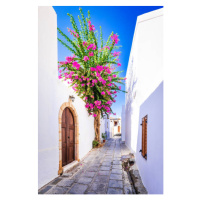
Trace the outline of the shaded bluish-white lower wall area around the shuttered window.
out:
M 139 125 L 136 162 L 149 194 L 163 193 L 163 82 L 140 106 L 139 124 L 147 119 L 147 160 L 142 149 L 142 127 Z

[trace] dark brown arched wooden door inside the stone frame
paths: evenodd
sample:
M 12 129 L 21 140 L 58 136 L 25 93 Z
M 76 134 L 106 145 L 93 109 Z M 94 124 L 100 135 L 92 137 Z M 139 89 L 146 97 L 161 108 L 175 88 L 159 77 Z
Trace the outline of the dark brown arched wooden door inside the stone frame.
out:
M 62 166 L 65 166 L 75 157 L 74 118 L 69 108 L 62 113 Z

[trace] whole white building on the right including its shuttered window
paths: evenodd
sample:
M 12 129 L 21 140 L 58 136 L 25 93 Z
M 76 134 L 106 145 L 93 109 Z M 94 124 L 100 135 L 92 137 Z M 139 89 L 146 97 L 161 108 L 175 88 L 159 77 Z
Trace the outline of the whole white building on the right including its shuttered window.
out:
M 163 9 L 138 16 L 126 77 L 125 143 L 148 193 L 162 194 Z

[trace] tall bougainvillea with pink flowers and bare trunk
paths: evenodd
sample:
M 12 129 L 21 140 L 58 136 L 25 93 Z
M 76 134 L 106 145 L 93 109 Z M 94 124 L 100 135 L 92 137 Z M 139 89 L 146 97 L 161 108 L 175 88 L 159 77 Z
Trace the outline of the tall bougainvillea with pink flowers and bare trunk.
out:
M 82 9 L 79 10 L 80 30 L 74 17 L 67 14 L 74 30 L 67 29 L 73 39 L 58 28 L 58 32 L 66 42 L 59 38 L 58 40 L 72 52 L 65 61 L 59 62 L 59 79 L 68 81 L 76 94 L 85 102 L 89 115 L 94 117 L 95 140 L 100 143 L 100 116 L 113 113 L 111 106 L 116 101 L 117 92 L 122 91 L 121 86 L 118 87 L 116 84 L 124 84 L 122 81 L 125 80 L 119 77 L 121 72 L 116 71 L 116 67 L 121 66 L 120 52 L 114 51 L 120 47 L 117 46 L 119 39 L 118 35 L 112 32 L 105 43 L 100 27 L 98 42 L 90 12 L 88 11 L 88 17 L 85 18 Z

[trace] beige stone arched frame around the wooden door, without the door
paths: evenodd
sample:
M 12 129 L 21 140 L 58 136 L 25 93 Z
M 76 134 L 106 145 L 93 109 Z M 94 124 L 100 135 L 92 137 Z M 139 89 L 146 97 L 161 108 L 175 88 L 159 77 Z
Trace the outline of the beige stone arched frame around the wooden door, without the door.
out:
M 59 124 L 59 170 L 58 175 L 63 173 L 63 167 L 62 167 L 62 113 L 65 108 L 69 108 L 72 112 L 72 115 L 74 117 L 74 132 L 75 132 L 75 148 L 74 148 L 74 154 L 75 154 L 75 160 L 80 161 L 79 159 L 79 122 L 78 122 L 78 114 L 76 112 L 76 109 L 74 105 L 72 104 L 71 99 L 69 99 L 69 102 L 65 102 L 62 104 L 59 110 L 58 114 L 58 124 Z

